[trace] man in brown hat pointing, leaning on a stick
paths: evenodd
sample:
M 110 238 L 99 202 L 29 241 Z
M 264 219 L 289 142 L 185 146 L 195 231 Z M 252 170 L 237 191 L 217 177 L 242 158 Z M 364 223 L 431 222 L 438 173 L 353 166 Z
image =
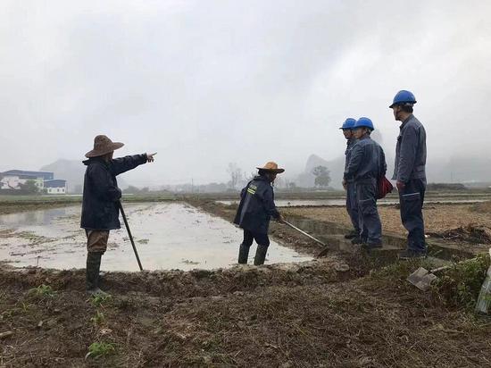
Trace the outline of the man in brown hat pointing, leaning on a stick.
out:
M 112 142 L 106 136 L 96 136 L 94 149 L 87 152 L 88 160 L 84 178 L 82 218 L 80 227 L 87 234 L 87 292 L 91 295 L 104 293 L 98 287 L 101 257 L 107 249 L 109 231 L 120 229 L 119 220 L 121 189 L 116 176 L 143 163 L 154 162 L 154 155 L 132 155 L 112 158 L 114 150 L 124 146 Z

